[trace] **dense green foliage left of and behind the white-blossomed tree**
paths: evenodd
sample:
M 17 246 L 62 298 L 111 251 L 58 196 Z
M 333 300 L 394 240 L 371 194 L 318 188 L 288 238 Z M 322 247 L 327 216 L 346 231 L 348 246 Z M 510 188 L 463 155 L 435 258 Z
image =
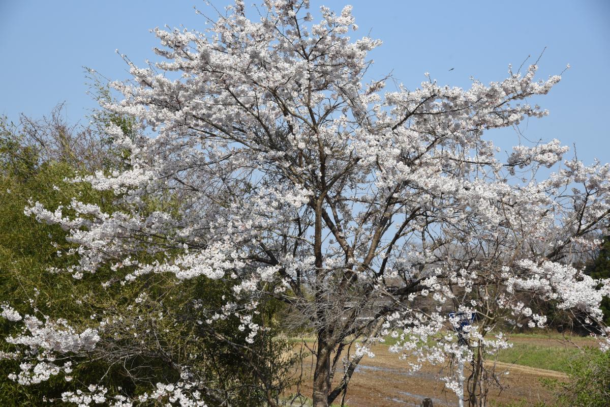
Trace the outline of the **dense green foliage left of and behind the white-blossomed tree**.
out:
M 128 121 L 121 124 L 129 125 Z M 279 304 L 261 301 L 254 322 L 267 330 L 260 331 L 254 344 L 248 344 L 245 334 L 234 335 L 239 332 L 237 319 L 219 322 L 213 332 L 198 323 L 205 319 L 205 309 L 217 309 L 230 300 L 231 290 L 221 281 L 200 278 L 184 283 L 152 273 L 123 285 L 116 283 L 117 273 L 109 268 L 82 279 L 49 271 L 69 267 L 78 256 L 67 255 L 74 244 L 65 239 L 66 233 L 59 226 L 24 215 L 29 202 L 40 201 L 45 207 L 56 208 L 76 197 L 109 212 L 122 210 L 113 203 L 115 197 L 110 193 L 93 190 L 86 182 L 65 181 L 76 172 L 73 160 L 41 155 L 18 128 L 0 120 L 0 298 L 21 315 L 34 314 L 41 320 L 61 316 L 77 330 L 90 325 L 92 315 L 114 321 L 107 333 L 101 333 L 98 360 L 77 364 L 70 382 L 52 376 L 40 384 L 21 386 L 7 378 L 19 370 L 19 361 L 2 361 L 0 405 L 41 405 L 46 397 L 62 406 L 57 402 L 62 392 L 83 389 L 102 377 L 110 392 L 142 394 L 157 381 L 178 380 L 173 364 L 186 358 L 195 359 L 189 362 L 193 373 L 206 378 L 208 386 L 220 389 L 232 405 L 267 405 L 269 394 L 279 400 L 282 391 L 292 384 L 290 373 L 299 357 L 289 341 L 278 338 L 274 315 Z M 171 211 L 175 206 L 172 196 L 145 203 L 150 212 Z M 165 254 L 171 255 L 171 251 Z M 158 254 L 143 250 L 134 259 L 152 262 L 155 256 Z M 115 284 L 102 288 L 102 283 L 112 280 Z M 145 300 L 136 301 L 143 292 Z M 193 303 L 193 298 L 202 297 L 203 304 Z M 15 350 L 4 338 L 20 333 L 19 326 L 0 318 L 0 352 Z

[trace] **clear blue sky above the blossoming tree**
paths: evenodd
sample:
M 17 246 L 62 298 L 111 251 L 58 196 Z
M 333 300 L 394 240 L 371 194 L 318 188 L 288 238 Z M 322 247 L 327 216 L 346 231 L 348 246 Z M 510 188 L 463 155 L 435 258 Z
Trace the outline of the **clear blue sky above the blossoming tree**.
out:
M 227 3 L 213 1 L 219 9 Z M 360 29 L 351 35 L 370 31 L 384 41 L 371 55 L 371 76 L 393 71 L 409 88 L 426 71 L 440 84 L 467 87 L 470 76 L 498 81 L 509 63 L 519 67 L 528 55 L 535 61 L 546 46 L 540 77 L 572 68 L 535 101 L 550 116 L 530 120 L 523 132 L 576 143 L 587 164 L 594 157 L 610 162 L 610 1 L 311 0 L 314 10 L 321 4 L 337 11 L 352 4 Z M 65 101 L 68 119 L 84 121 L 95 103 L 85 94 L 82 67 L 128 79 L 115 49 L 137 65 L 154 59 L 149 29 L 204 28 L 193 5 L 213 15 L 202 0 L 0 0 L 0 114 L 40 117 Z M 490 137 L 502 148 L 517 142 L 512 130 Z

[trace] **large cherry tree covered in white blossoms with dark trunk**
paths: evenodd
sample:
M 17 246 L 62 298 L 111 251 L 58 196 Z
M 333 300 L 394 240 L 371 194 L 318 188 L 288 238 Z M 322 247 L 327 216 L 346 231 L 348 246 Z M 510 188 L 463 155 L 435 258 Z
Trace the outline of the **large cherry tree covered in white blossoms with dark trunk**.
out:
M 388 335 L 414 369 L 472 362 L 470 403 L 480 405 L 481 358 L 509 346 L 500 328 L 545 324 L 523 298 L 601 319 L 608 281 L 571 259 L 608 231 L 610 166 L 564 160 L 569 149 L 554 139 L 506 157 L 484 138 L 547 115 L 528 98 L 559 76 L 537 80 L 534 64 L 466 90 L 426 74 L 417 88 L 384 92 L 387 78 L 364 81 L 367 52 L 381 42 L 351 40 L 351 7 L 321 7 L 317 23 L 308 9 L 307 0 L 265 0 L 251 21 L 237 0 L 226 15 L 203 16 L 206 31 L 156 29 L 165 60 L 138 68 L 126 59 L 132 81 L 113 83 L 124 99 L 103 106 L 141 127 L 135 137 L 108 129 L 126 151 L 123 169 L 73 181 L 113 192 L 123 209 L 75 198 L 59 209 L 33 202 L 26 214 L 69 232 L 76 278 L 110 267 L 109 286 L 152 274 L 184 286 L 226 282 L 226 302 L 204 310 L 207 332 L 239 319 L 236 334 L 252 342 L 262 301 L 282 301 L 315 335 L 315 407 L 345 395 L 358 363 Z M 544 179 L 542 167 L 552 171 Z M 175 205 L 148 213 L 151 201 Z M 135 260 L 142 251 L 153 260 Z M 458 335 L 451 310 L 475 321 Z M 27 376 L 65 370 L 55 355 L 95 347 L 108 322 L 94 320 L 79 333 L 25 317 L 11 340 L 42 352 L 23 367 Z M 171 394 L 176 405 L 199 405 L 196 375 L 187 362 L 180 369 L 179 383 L 159 383 L 140 401 Z M 464 373 L 444 379 L 459 393 Z M 97 383 L 65 398 L 138 403 L 106 392 Z

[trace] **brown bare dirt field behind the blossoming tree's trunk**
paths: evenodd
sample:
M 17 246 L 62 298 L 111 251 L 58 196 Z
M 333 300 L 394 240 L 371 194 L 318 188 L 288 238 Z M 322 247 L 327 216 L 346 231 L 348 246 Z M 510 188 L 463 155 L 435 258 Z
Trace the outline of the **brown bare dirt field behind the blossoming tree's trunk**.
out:
M 558 345 L 554 339 L 544 338 L 514 338 L 512 342 L 537 345 Z M 439 366 L 423 366 L 418 372 L 411 372 L 406 361 L 401 361 L 395 353 L 390 353 L 387 347 L 379 345 L 373 349 L 375 358 L 365 357 L 360 362 L 351 379 L 345 397 L 345 405 L 349 407 L 406 407 L 417 406 L 423 398 L 432 398 L 434 406 L 456 406 L 457 398 L 453 392 L 446 391 L 444 383 L 439 380 L 443 376 Z M 312 358 L 304 363 L 301 394 L 311 394 L 310 383 Z M 503 389 L 490 391 L 490 399 L 500 402 L 527 400 L 534 403 L 539 400 L 550 400 L 551 394 L 540 383 L 540 378 L 565 379 L 563 373 L 553 370 L 534 369 L 526 366 L 498 362 L 497 373 L 501 375 Z M 340 405 L 340 398 L 335 403 Z

